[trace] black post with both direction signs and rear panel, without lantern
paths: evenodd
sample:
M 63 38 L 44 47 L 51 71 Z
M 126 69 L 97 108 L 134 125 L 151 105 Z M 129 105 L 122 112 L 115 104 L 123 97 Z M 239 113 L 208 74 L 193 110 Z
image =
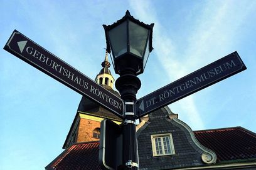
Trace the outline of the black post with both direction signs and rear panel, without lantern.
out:
M 128 64 L 122 68 L 125 74 L 121 74 L 116 83 L 125 101 L 124 106 L 122 99 L 16 30 L 4 49 L 123 119 L 121 128 L 109 120 L 101 123 L 99 161 L 104 169 L 139 169 L 135 118 L 141 118 L 247 69 L 235 51 L 136 101 L 141 81 L 134 71 L 137 67 L 129 63 L 131 66 Z M 121 65 L 126 61 L 120 61 Z

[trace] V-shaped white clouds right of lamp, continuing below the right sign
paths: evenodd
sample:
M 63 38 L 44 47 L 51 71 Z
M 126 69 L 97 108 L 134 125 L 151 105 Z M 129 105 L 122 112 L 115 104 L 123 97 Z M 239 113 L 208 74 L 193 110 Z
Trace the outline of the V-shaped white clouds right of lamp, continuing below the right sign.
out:
M 183 51 L 176 47 L 174 39 L 169 38 L 166 33 L 168 30 L 161 26 L 154 6 L 149 1 L 131 0 L 130 6 L 139 19 L 155 23 L 154 53 L 168 73 L 169 82 L 172 82 L 235 51 L 232 47 L 239 36 L 237 30 L 241 29 L 245 17 L 252 12 L 255 2 L 208 1 L 200 4 L 201 10 L 191 10 L 195 14 L 193 22 L 186 23 L 189 32 L 183 40 Z M 205 128 L 205 121 L 193 96 L 182 99 L 174 108 L 191 128 Z

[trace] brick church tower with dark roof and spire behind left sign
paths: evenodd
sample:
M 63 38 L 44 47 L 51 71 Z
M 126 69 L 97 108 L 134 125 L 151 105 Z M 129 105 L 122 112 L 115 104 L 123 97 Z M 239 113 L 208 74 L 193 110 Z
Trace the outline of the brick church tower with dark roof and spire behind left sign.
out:
M 97 74 L 95 81 L 111 93 L 120 97 L 119 93 L 113 90 L 114 78 L 110 73 L 110 63 L 107 51 L 105 53 L 105 59 L 101 65 L 102 69 L 100 70 L 100 73 Z M 70 131 L 63 144 L 63 149 L 67 149 L 74 143 L 99 141 L 100 121 L 106 118 L 111 119 L 117 124 L 122 122 L 122 119 L 83 96 L 78 106 L 75 119 L 70 127 Z

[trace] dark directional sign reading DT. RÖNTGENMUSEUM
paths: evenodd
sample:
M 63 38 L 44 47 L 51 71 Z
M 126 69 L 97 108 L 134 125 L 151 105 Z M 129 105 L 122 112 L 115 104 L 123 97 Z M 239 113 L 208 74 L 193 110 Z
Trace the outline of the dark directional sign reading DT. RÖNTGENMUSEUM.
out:
M 136 102 L 138 118 L 247 69 L 237 51 L 154 91 Z

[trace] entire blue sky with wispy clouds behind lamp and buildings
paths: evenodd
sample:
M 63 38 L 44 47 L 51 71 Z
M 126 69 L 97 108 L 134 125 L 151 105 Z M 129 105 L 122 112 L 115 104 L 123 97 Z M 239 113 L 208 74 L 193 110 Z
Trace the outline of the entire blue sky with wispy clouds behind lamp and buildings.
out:
M 127 9 L 155 23 L 137 98 L 238 51 L 246 71 L 169 107 L 193 130 L 256 132 L 256 1 L 2 0 L 0 46 L 17 29 L 94 79 L 105 56 L 102 24 Z M 0 63 L 0 169 L 44 169 L 63 151 L 82 96 L 3 49 Z

